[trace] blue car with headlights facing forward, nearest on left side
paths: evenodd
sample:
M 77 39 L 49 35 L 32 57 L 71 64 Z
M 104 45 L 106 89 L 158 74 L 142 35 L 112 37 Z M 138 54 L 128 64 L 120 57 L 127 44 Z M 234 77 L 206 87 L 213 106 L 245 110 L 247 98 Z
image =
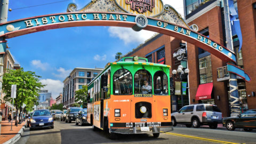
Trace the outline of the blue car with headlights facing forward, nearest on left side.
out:
M 42 127 L 54 128 L 53 117 L 48 109 L 35 110 L 30 117 L 29 130 Z

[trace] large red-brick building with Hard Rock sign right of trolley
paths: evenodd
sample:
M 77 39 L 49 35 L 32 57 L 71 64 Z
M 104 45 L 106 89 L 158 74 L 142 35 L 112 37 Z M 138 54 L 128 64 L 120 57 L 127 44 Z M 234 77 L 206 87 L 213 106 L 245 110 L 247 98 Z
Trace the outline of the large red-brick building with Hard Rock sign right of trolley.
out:
M 226 46 L 222 1 L 184 0 L 183 3 L 188 26 L 197 25 L 198 33 Z M 245 82 L 241 77 L 237 77 L 239 100 L 241 111 L 243 111 L 256 108 L 256 74 L 254 73 L 256 63 L 252 54 L 256 53 L 256 49 L 254 49 L 256 43 L 256 1 L 237 0 L 234 1 L 234 6 L 238 12 L 243 35 L 242 51 L 238 52 L 239 41 L 233 30 L 233 45 L 237 55 L 237 65 L 244 69 L 252 79 L 251 82 Z M 176 53 L 179 50 L 186 51 L 186 54 L 177 58 Z M 227 63 L 213 54 L 178 38 L 158 34 L 126 56 L 133 55 L 145 56 L 149 62 L 165 63 L 171 66 L 171 70 L 177 69 L 179 65 L 189 68 L 188 77 L 182 79 L 182 82 L 188 82 L 187 94 L 183 95 L 184 104 L 213 103 L 221 109 L 223 116 L 230 115 Z M 180 81 L 179 77 L 172 78 L 174 82 Z M 209 89 L 211 93 L 205 98 L 199 98 L 197 92 L 203 90 L 198 89 L 198 87 Z M 172 88 L 175 89 L 175 83 L 171 83 L 171 90 Z M 177 111 L 181 108 L 181 95 L 175 95 L 174 92 L 171 94 L 172 111 Z

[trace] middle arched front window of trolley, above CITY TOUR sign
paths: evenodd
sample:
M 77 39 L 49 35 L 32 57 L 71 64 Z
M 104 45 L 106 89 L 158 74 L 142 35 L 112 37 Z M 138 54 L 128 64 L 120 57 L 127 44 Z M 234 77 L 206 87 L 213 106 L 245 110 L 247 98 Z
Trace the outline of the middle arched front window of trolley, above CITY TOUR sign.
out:
M 152 94 L 152 77 L 147 70 L 141 69 L 135 73 L 134 93 Z

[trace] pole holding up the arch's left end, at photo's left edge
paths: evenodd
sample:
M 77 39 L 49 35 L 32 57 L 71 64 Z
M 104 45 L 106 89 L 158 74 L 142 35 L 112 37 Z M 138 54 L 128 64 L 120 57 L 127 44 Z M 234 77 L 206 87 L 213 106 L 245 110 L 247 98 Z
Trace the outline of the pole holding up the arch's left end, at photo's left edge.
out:
M 0 23 L 7 21 L 9 0 L 0 0 Z M 0 37 L 0 94 L 2 94 L 2 84 L 4 75 L 4 54 L 6 51 L 5 38 Z

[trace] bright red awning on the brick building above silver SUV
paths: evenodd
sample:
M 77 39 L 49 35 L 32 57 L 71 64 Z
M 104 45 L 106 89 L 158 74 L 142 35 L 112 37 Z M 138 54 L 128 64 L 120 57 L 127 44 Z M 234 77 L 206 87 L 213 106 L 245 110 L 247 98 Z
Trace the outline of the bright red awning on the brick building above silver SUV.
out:
M 201 84 L 197 88 L 196 100 L 211 99 L 213 83 Z

